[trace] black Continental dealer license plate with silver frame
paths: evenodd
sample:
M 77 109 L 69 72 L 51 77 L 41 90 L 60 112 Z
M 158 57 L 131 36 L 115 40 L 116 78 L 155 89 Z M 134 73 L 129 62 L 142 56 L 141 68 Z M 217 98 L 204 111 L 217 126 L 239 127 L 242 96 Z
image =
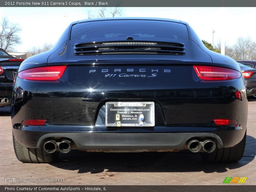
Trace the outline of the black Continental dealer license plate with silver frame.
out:
M 155 126 L 154 102 L 106 102 L 106 126 Z

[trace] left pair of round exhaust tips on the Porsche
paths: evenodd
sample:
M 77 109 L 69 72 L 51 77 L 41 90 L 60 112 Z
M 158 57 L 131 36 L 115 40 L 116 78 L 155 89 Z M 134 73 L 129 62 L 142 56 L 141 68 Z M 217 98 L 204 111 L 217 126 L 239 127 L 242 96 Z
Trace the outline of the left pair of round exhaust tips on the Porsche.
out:
M 68 153 L 71 150 L 71 142 L 69 140 L 62 140 L 57 144 L 55 140 L 49 140 L 44 143 L 44 150 L 47 153 L 54 153 L 59 150 L 61 153 Z

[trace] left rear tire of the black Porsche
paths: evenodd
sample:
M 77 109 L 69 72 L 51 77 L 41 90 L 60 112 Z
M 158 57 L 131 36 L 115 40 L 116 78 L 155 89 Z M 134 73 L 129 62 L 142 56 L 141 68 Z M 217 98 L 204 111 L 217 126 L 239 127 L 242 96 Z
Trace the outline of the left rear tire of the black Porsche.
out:
M 47 153 L 41 148 L 26 148 L 20 145 L 13 135 L 12 139 L 15 155 L 17 159 L 23 163 L 52 163 L 58 158 L 58 151 Z

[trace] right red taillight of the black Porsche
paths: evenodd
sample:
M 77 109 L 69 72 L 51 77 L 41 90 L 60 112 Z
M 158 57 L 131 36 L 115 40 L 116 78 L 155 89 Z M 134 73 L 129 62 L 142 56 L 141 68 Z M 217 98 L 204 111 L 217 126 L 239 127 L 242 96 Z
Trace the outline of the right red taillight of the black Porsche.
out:
M 194 66 L 196 74 L 203 80 L 228 80 L 241 77 L 241 73 L 228 68 Z

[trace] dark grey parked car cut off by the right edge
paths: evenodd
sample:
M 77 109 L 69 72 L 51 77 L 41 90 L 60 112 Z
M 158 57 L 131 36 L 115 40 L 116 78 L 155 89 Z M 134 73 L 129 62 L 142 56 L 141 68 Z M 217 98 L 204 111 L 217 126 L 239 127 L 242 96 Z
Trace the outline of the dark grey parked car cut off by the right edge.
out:
M 247 67 L 242 63 L 238 63 L 238 65 L 244 76 L 247 98 L 256 99 L 256 69 Z

